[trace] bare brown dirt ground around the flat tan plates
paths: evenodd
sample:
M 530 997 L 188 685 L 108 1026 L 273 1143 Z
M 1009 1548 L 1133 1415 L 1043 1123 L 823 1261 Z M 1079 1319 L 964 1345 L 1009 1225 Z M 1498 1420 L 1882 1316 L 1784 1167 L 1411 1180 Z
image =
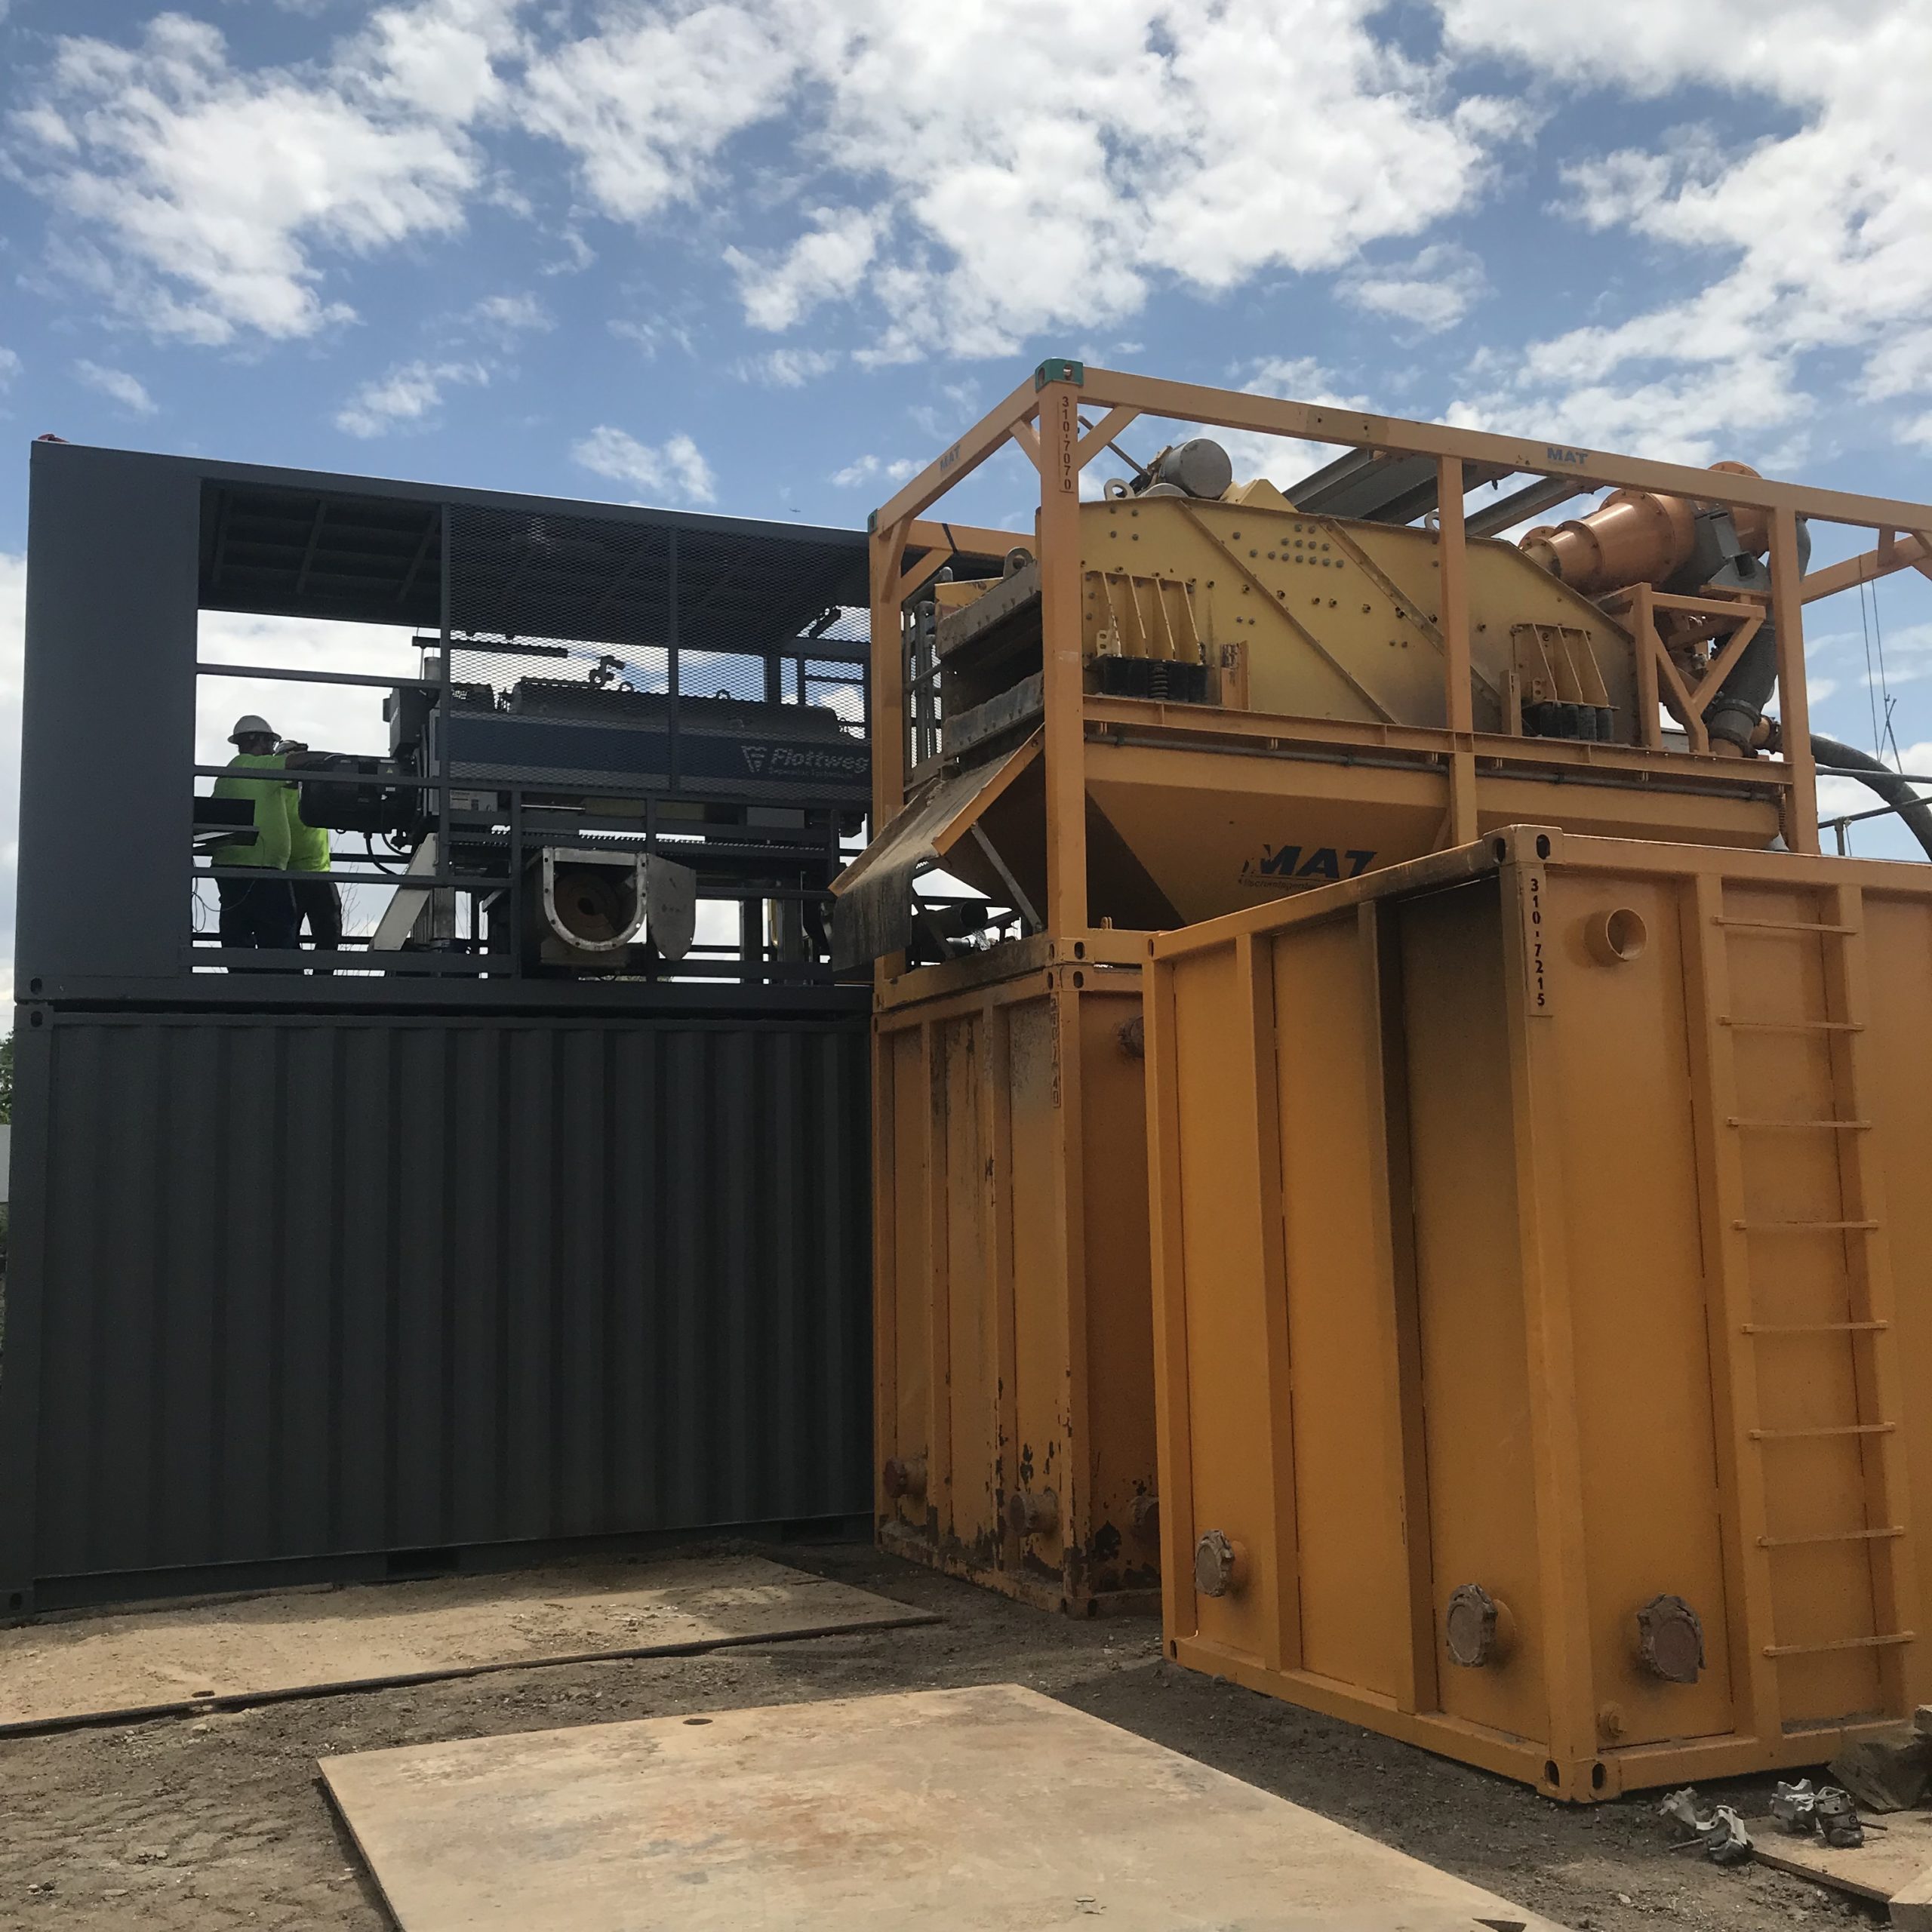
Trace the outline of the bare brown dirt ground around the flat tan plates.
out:
M 850 1544 L 763 1551 L 945 1621 L 697 1658 L 516 1669 L 0 1741 L 0 1926 L 383 1932 L 315 1772 L 330 1752 L 800 1698 L 1022 1683 L 1277 1791 L 1577 1932 L 1766 1932 L 1884 1915 L 1673 1853 L 1654 1797 L 1573 1810 L 1161 1658 L 1153 1617 L 1072 1623 Z M 1762 1816 L 1770 1779 L 1712 1785 Z

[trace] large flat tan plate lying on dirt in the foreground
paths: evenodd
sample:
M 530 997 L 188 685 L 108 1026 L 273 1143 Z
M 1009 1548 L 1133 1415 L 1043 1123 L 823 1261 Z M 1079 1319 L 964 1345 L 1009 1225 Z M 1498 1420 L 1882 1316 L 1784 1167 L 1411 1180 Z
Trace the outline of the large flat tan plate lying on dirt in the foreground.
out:
M 325 1758 L 402 1932 L 1548 1918 L 1018 1685 Z

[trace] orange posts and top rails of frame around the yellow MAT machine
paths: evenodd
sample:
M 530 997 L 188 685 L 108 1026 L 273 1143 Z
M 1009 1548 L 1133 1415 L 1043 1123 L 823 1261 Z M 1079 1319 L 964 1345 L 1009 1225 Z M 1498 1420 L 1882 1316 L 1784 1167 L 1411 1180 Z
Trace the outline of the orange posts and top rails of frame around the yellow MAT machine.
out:
M 1086 412 L 1086 415 L 1082 415 Z M 1660 491 L 1768 512 L 1772 595 L 1770 616 L 1777 626 L 1777 694 L 1783 721 L 1781 759 L 1739 763 L 1737 777 L 1770 781 L 1781 790 L 1783 838 L 1793 852 L 1818 850 L 1818 786 L 1810 755 L 1810 713 L 1804 692 L 1803 607 L 1833 591 L 1868 583 L 1893 570 L 1917 568 L 1932 576 L 1932 506 L 1845 491 L 1808 489 L 1768 477 L 1694 469 L 1638 456 L 1573 448 L 1532 437 L 1412 423 L 1391 415 L 1364 415 L 1321 404 L 1283 402 L 1238 390 L 1169 383 L 1115 369 L 1088 369 L 1074 361 L 1045 361 L 1005 402 L 997 404 L 951 448 L 937 456 L 869 522 L 871 531 L 871 717 L 873 717 L 873 833 L 885 829 L 906 792 L 904 645 L 900 612 L 954 556 L 1003 556 L 1014 545 L 1034 551 L 1041 572 L 1043 622 L 1043 734 L 1047 790 L 1047 902 L 1045 929 L 1057 935 L 1086 933 L 1086 738 L 1088 721 L 1101 699 L 1088 699 L 1080 657 L 1080 471 L 1138 417 L 1246 429 L 1306 442 L 1379 450 L 1389 456 L 1428 456 L 1437 466 L 1441 526 L 1441 634 L 1449 728 L 1430 732 L 1447 769 L 1439 846 L 1468 844 L 1478 835 L 1478 763 L 1515 759 L 1526 740 L 1478 734 L 1470 711 L 1468 576 L 1463 531 L 1464 466 L 1501 466 L 1532 477 L 1575 479 L 1578 491 L 1609 487 Z M 1039 526 L 1034 533 L 981 529 L 931 516 L 933 506 L 987 458 L 1007 444 L 1018 446 L 1039 473 Z M 1799 564 L 1797 518 L 1847 524 L 1878 533 L 1872 551 L 1804 576 Z M 908 560 L 910 558 L 910 560 Z M 1644 692 L 1662 684 L 1660 696 L 1681 709 L 1694 752 L 1706 748 L 1700 696 L 1716 692 L 1706 676 L 1696 694 L 1687 692 L 1669 657 L 1656 645 L 1654 612 L 1667 601 L 1640 593 L 1636 628 L 1648 628 L 1638 645 Z M 1692 603 L 1696 603 L 1692 599 Z M 1733 607 L 1735 609 L 1735 607 Z M 1743 645 L 1733 639 L 1725 659 Z M 1714 667 L 1716 668 L 1716 667 Z M 1725 665 L 1727 668 L 1727 665 Z M 1167 713 L 1167 721 L 1173 713 Z M 1211 721 L 1204 719 L 1204 726 Z M 1316 723 L 1316 721 L 1310 721 Z M 1654 757 L 1681 759 L 1658 750 L 1654 709 L 1640 721 Z M 1318 732 L 1310 736 L 1318 736 Z M 1600 748 L 1561 746 L 1559 757 L 1590 761 Z M 1642 757 L 1642 753 L 1638 753 Z M 1652 769 L 1656 769 L 1652 765 Z M 881 962 L 883 983 L 896 976 L 898 960 Z

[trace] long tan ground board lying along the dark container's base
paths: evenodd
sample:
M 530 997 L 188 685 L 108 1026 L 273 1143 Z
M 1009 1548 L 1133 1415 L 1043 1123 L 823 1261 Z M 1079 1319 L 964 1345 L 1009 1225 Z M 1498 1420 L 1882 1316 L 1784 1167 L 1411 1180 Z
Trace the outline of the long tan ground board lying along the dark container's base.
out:
M 763 1557 L 280 1590 L 0 1631 L 0 1735 L 929 1621 Z

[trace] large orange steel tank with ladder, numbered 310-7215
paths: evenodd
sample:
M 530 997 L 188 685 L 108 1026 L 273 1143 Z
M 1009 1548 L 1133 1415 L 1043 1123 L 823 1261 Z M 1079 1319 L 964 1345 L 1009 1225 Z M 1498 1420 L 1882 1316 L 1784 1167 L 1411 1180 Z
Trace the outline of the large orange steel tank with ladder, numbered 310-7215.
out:
M 1180 1662 L 1569 1799 L 1932 1694 L 1924 881 L 1515 829 L 1153 941 Z

